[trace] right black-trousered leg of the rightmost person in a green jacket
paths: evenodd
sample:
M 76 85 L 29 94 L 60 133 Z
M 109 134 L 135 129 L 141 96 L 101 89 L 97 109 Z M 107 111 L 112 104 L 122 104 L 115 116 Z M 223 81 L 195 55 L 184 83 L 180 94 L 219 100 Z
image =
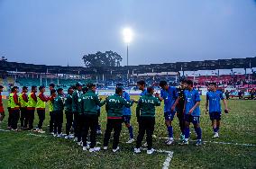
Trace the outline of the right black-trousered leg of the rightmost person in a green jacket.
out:
M 155 118 L 148 118 L 146 122 L 146 132 L 147 132 L 147 144 L 148 144 L 148 151 L 147 154 L 152 154 L 154 152 L 154 149 L 152 148 L 152 135 L 155 129 Z

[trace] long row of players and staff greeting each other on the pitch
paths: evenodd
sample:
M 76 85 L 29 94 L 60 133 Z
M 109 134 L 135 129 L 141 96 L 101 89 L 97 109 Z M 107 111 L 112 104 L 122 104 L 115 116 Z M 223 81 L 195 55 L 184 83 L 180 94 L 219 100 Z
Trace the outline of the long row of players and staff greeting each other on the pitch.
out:
M 200 128 L 200 95 L 193 88 L 191 80 L 181 80 L 178 88 L 169 86 L 166 81 L 160 81 L 160 93 L 155 93 L 153 87 L 146 87 L 144 81 L 137 82 L 138 88 L 142 91 L 138 101 L 130 99 L 129 93 L 123 90 L 123 84 L 117 84 L 115 93 L 106 97 L 105 101 L 96 94 L 96 85 L 87 84 L 85 87 L 81 83 L 77 83 L 76 87 L 69 87 L 68 94 L 65 96 L 63 89 L 54 89 L 55 85 L 50 84 L 50 96 L 44 94 L 45 87 L 32 86 L 31 93 L 28 88 L 23 87 L 23 92 L 19 95 L 19 88 L 14 86 L 12 93 L 8 99 L 8 129 L 18 131 L 18 121 L 21 120 L 21 129 L 28 129 L 38 133 L 44 133 L 42 130 L 43 120 L 45 119 L 45 105 L 50 103 L 50 133 L 54 137 L 61 137 L 63 111 L 66 114 L 66 136 L 65 138 L 74 138 L 83 150 L 96 152 L 100 147 L 96 147 L 96 134 L 100 134 L 100 125 L 98 118 L 100 116 L 100 107 L 105 105 L 107 113 L 107 124 L 105 129 L 104 147 L 108 148 L 108 142 L 111 132 L 114 130 L 113 151 L 119 150 L 119 137 L 122 130 L 122 123 L 129 130 L 130 138 L 127 143 L 133 143 L 133 126 L 130 123 L 132 111 L 130 109 L 133 103 L 137 103 L 136 117 L 139 124 L 138 137 L 136 139 L 135 153 L 141 153 L 142 139 L 147 134 L 147 154 L 152 154 L 152 135 L 155 126 L 155 107 L 160 106 L 160 102 L 164 102 L 164 118 L 168 131 L 167 145 L 174 142 L 172 120 L 177 114 L 180 127 L 180 143 L 179 145 L 188 145 L 189 126 L 194 125 L 197 133 L 196 146 L 202 145 L 202 129 Z M 209 112 L 210 120 L 214 130 L 214 137 L 219 137 L 219 128 L 221 120 L 221 103 L 224 101 L 224 111 L 227 113 L 227 103 L 224 100 L 223 93 L 216 90 L 216 84 L 209 84 L 209 92 L 206 93 L 206 113 Z M 3 86 L 0 85 L 0 121 L 5 117 L 1 92 Z M 208 110 L 209 107 L 209 110 Z M 33 128 L 34 112 L 37 110 L 39 122 L 37 127 Z M 70 134 L 73 129 L 74 135 Z M 90 142 L 87 141 L 88 131 L 90 130 Z

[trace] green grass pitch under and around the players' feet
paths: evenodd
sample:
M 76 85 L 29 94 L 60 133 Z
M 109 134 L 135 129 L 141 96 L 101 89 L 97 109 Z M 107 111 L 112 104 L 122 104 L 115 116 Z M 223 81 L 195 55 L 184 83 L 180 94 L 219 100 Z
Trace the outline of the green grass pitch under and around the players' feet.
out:
M 136 97 L 135 97 L 136 98 Z M 4 101 L 6 105 L 6 100 Z M 206 142 L 202 147 L 195 147 L 195 142 L 190 141 L 187 147 L 178 146 L 178 140 L 174 145 L 166 146 L 164 139 L 167 130 L 163 119 L 163 104 L 157 108 L 155 132 L 157 138 L 153 139 L 153 147 L 173 151 L 170 168 L 256 168 L 256 101 L 230 100 L 229 114 L 222 116 L 220 138 L 212 138 L 213 131 L 208 115 L 205 114 L 206 98 L 202 96 L 201 127 L 203 129 L 203 140 Z M 135 112 L 133 105 L 133 114 Z M 5 106 L 6 107 L 6 106 Z M 5 110 L 5 120 L 0 125 L 6 129 L 8 118 Z M 48 131 L 49 112 L 46 112 L 44 130 Z M 34 126 L 37 124 L 38 116 L 35 113 Z M 103 133 L 105 133 L 105 106 L 101 110 Z M 132 124 L 135 137 L 138 126 L 136 117 L 133 115 Z M 175 138 L 179 137 L 178 119 L 173 121 Z M 63 133 L 65 120 L 63 123 Z M 191 126 L 192 128 L 192 126 Z M 72 140 L 64 138 L 53 138 L 49 133 L 35 137 L 28 135 L 29 131 L 5 132 L 0 131 L 0 168 L 162 168 L 167 157 L 164 153 L 147 155 L 134 155 L 134 144 L 125 144 L 129 138 L 128 130 L 123 125 L 121 134 L 121 151 L 113 153 L 111 149 L 97 153 L 84 152 Z M 192 130 L 191 139 L 196 139 Z M 103 143 L 103 135 L 97 137 L 97 141 Z M 145 141 L 145 139 L 144 139 Z M 232 144 L 219 144 L 220 142 Z M 251 144 L 252 146 L 235 145 Z M 102 147 L 102 145 L 98 145 Z M 110 142 L 110 147 L 112 142 Z

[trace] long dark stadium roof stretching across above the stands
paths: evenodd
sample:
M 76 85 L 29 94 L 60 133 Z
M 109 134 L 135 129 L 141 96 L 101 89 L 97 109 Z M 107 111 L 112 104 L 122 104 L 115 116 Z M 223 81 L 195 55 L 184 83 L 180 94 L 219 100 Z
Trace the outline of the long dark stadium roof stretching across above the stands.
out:
M 51 74 L 73 74 L 73 75 L 92 75 L 92 74 L 143 74 L 160 72 L 178 71 L 197 71 L 215 70 L 232 68 L 251 68 L 256 67 L 256 57 L 254 58 L 232 58 L 218 60 L 204 60 L 191 62 L 163 63 L 139 66 L 124 67 L 60 67 L 33 65 L 25 63 L 0 61 L 0 71 L 35 72 Z

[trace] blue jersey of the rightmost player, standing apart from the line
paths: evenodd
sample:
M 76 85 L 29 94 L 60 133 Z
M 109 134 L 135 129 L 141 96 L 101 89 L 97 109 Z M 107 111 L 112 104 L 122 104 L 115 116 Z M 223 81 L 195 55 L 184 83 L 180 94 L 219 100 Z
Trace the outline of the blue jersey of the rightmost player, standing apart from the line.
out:
M 221 91 L 210 91 L 206 93 L 206 100 L 209 101 L 209 112 L 221 112 L 221 100 L 224 100 L 223 93 Z

